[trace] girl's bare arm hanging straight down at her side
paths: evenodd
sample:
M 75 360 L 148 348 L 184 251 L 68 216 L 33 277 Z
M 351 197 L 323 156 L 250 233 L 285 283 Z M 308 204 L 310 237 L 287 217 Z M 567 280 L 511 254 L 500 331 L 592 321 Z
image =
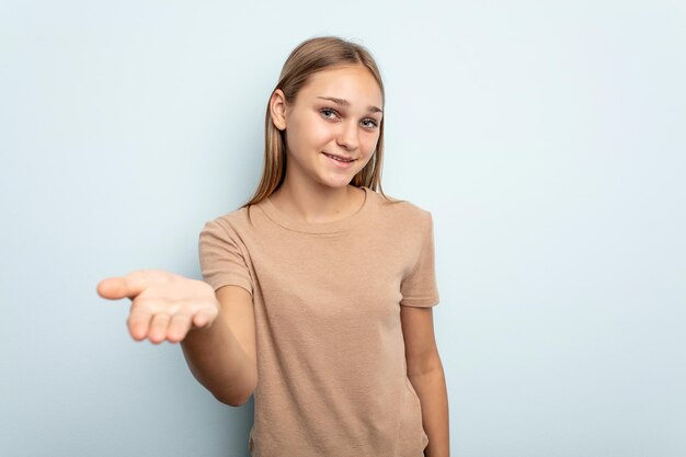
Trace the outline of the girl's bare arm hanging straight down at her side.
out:
M 449 457 L 448 396 L 434 338 L 433 309 L 401 306 L 408 378 L 420 397 L 422 422 L 428 436 L 426 457 Z

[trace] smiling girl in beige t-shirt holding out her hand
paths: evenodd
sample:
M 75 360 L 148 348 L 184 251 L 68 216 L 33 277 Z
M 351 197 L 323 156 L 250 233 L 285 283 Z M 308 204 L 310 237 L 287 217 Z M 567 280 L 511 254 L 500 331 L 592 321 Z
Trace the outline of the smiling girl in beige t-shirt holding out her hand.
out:
M 107 278 L 137 340 L 181 342 L 218 400 L 254 395 L 253 457 L 448 456 L 433 219 L 380 190 L 384 84 L 366 48 L 307 39 L 265 119 L 262 181 L 199 235 L 204 281 Z

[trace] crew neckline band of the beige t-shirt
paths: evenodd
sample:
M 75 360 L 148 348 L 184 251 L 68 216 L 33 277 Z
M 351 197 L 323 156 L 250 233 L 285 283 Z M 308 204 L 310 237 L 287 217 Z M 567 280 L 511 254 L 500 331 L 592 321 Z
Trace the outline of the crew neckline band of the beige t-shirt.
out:
M 262 201 L 260 208 L 262 208 L 262 210 L 270 219 L 272 219 L 272 221 L 288 230 L 299 231 L 302 233 L 333 233 L 336 231 L 345 231 L 359 225 L 366 217 L 368 217 L 370 213 L 369 208 L 373 202 L 369 194 L 371 194 L 374 191 L 364 185 L 359 186 L 358 188 L 365 191 L 365 199 L 359 209 L 343 219 L 333 220 L 330 222 L 306 222 L 295 219 L 293 216 L 287 215 L 286 213 L 283 213 L 281 209 L 278 209 L 276 205 L 274 205 L 274 203 L 272 202 L 271 197 L 266 197 L 264 201 Z

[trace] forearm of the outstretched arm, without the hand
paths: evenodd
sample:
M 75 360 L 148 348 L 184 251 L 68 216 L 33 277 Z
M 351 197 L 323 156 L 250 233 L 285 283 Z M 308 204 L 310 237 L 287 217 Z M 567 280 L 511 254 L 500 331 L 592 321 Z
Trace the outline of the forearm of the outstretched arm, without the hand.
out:
M 193 376 L 222 403 L 243 404 L 256 385 L 256 367 L 221 319 L 191 330 L 181 342 Z

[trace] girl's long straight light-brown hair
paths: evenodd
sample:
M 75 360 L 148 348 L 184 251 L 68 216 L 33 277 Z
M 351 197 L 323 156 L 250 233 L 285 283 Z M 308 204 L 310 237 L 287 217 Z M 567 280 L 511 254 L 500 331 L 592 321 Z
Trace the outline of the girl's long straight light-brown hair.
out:
M 308 38 L 300 43 L 288 56 L 282 68 L 276 89 L 284 92 L 287 104 L 295 103 L 300 89 L 308 82 L 309 78 L 318 71 L 330 68 L 344 67 L 348 65 L 363 65 L 376 79 L 381 90 L 381 100 L 386 100 L 384 92 L 384 81 L 379 68 L 377 67 L 369 50 L 364 46 L 345 41 L 338 36 L 320 36 Z M 272 98 L 270 94 L 270 99 Z M 381 168 L 384 163 L 384 122 L 386 114 L 379 124 L 379 139 L 376 150 L 367 162 L 351 182 L 355 187 L 366 186 L 379 193 L 393 203 L 381 188 Z M 241 205 L 241 208 L 255 205 L 267 198 L 284 182 L 286 176 L 286 141 L 285 133 L 276 128 L 272 122 L 270 103 L 267 102 L 266 114 L 264 116 L 264 167 L 262 179 L 252 197 Z

